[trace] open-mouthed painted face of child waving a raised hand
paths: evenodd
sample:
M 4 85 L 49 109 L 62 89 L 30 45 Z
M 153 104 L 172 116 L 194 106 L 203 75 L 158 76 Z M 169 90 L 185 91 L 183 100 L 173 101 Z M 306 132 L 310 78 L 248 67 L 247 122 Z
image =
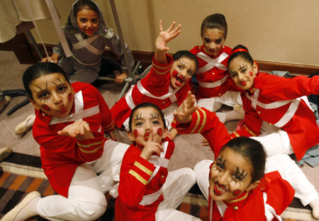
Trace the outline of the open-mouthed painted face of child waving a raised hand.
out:
M 188 57 L 173 62 L 170 83 L 173 89 L 184 86 L 196 71 L 196 63 Z

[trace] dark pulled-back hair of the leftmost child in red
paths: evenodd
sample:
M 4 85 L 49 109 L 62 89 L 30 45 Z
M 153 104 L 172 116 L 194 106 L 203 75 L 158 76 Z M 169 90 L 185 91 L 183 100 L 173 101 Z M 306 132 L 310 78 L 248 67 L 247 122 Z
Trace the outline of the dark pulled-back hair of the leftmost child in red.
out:
M 69 83 L 69 78 L 67 77 L 67 74 L 65 74 L 65 71 L 62 69 L 62 67 L 53 62 L 38 62 L 26 69 L 26 71 L 23 73 L 22 81 L 30 99 L 33 100 L 32 92 L 30 90 L 31 82 L 43 75 L 53 73 L 62 74 L 67 83 Z

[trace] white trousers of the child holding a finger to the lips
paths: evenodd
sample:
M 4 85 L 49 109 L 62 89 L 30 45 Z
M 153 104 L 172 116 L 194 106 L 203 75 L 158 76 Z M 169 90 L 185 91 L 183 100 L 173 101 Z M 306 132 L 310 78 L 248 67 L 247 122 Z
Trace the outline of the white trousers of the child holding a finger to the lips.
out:
M 162 190 L 164 200 L 159 203 L 155 213 L 155 220 L 200 220 L 197 217 L 176 210 L 186 193 L 189 192 L 195 183 L 196 176 L 194 171 L 188 167 L 169 172 Z

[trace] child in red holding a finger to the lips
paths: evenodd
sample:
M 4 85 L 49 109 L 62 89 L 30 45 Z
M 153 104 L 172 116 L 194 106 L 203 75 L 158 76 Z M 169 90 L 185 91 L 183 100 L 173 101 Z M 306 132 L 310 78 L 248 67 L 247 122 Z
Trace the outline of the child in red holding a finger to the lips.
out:
M 196 180 L 190 168 L 167 171 L 175 145 L 162 111 L 140 103 L 129 121 L 133 144 L 121 165 L 115 220 L 199 220 L 175 210 Z

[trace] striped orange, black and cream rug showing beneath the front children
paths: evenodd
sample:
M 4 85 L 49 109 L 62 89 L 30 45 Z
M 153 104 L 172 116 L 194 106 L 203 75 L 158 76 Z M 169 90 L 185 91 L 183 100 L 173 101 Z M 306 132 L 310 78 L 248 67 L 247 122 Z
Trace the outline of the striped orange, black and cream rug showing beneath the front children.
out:
M 40 157 L 13 153 L 0 165 L 4 168 L 4 174 L 0 178 L 0 218 L 32 191 L 40 192 L 41 196 L 57 194 L 52 190 L 50 183 L 40 169 Z M 106 198 L 108 199 L 108 209 L 96 221 L 111 221 L 113 219 L 114 199 L 109 195 L 106 195 Z M 208 201 L 203 197 L 197 185 L 191 188 L 177 209 L 199 217 L 201 220 L 208 220 Z M 298 199 L 293 200 L 281 217 L 285 221 L 313 220 L 310 207 L 304 208 Z M 35 220 L 43 221 L 45 219 L 37 216 L 32 217 L 29 221 Z

